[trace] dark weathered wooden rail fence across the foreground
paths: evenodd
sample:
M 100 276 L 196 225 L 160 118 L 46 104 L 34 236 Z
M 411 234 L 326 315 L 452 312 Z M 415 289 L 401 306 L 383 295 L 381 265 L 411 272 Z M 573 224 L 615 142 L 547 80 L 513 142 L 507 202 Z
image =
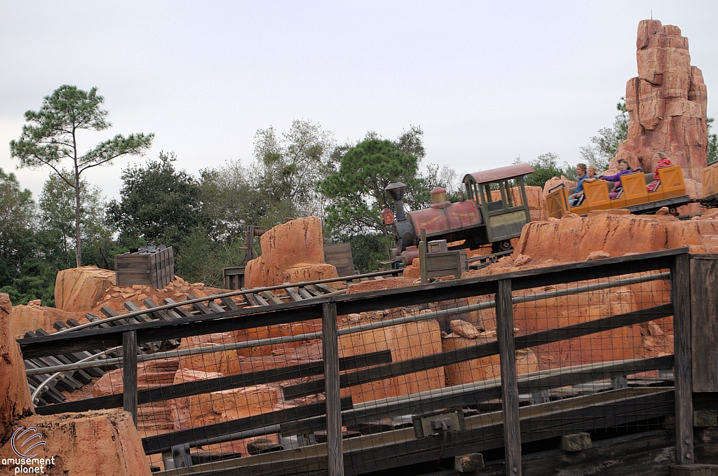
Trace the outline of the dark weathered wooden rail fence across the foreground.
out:
M 123 393 L 40 407 L 38 411 L 42 414 L 122 406 L 123 409 L 131 412 L 137 421 L 138 405 L 144 403 L 323 374 L 323 379 L 284 387 L 284 396 L 298 398 L 324 392 L 324 402 L 308 403 L 304 406 L 272 411 L 269 414 L 157 434 L 144 438 L 143 444 L 147 454 L 172 452 L 182 445 L 197 446 L 202 443 L 242 437 L 266 426 L 271 426 L 271 431 L 285 435 L 325 431 L 325 444 L 295 449 L 290 454 L 283 453 L 281 458 L 276 456 L 279 453 L 258 454 L 231 461 L 210 462 L 174 472 L 168 470 L 166 472 L 168 475 L 210 475 L 217 472 L 223 475 L 267 476 L 316 471 L 328 472 L 332 476 L 353 475 L 497 447 L 505 448 L 505 474 L 521 475 L 521 443 L 538 438 L 536 435 L 556 436 L 600 428 L 601 425 L 622 424 L 622 422 L 635 421 L 637 418 L 643 419 L 647 415 L 662 417 L 673 414 L 676 419 L 675 460 L 678 464 L 689 464 L 694 461 L 692 391 L 694 387 L 700 391 L 715 391 L 718 386 L 716 384 L 718 378 L 715 377 L 717 365 L 712 365 L 709 370 L 704 371 L 694 367 L 694 361 L 691 360 L 691 339 L 699 352 L 708 352 L 712 358 L 715 358 L 716 352 L 710 347 L 713 345 L 712 338 L 718 334 L 718 332 L 707 332 L 706 335 L 699 335 L 701 332 L 694 331 L 691 337 L 691 269 L 694 273 L 692 276 L 694 282 L 705 283 L 706 276 L 714 279 L 718 273 L 715 271 L 718 269 L 717 261 L 714 261 L 718 257 L 696 258 L 702 261 L 691 263 L 687 248 L 681 248 L 423 286 L 317 297 L 307 302 L 288 302 L 264 308 L 230 309 L 172 321 L 78 330 L 62 335 L 25 338 L 18 342 L 26 359 L 108 349 L 119 345 L 123 348 L 125 370 Z M 514 296 L 517 291 L 659 271 L 669 273 L 667 276 L 671 283 L 671 302 L 574 325 L 515 335 L 513 305 L 518 299 Z M 700 273 L 701 276 L 696 276 L 696 273 Z M 714 281 L 710 282 L 714 283 Z M 711 317 L 714 319 L 715 309 L 709 308 L 701 301 L 706 299 L 705 302 L 708 302 L 712 299 L 714 286 L 700 287 L 704 289 L 701 291 L 703 294 L 694 294 L 692 305 L 696 310 L 701 309 L 701 313 L 698 314 L 700 319 L 710 320 Z M 391 353 L 386 351 L 340 358 L 337 342 L 338 335 L 343 330 L 337 329 L 337 315 L 406 306 L 425 306 L 432 302 L 447 302 L 452 299 L 486 295 L 494 297 L 493 303 L 490 303 L 491 307 L 495 307 L 496 340 L 494 341 L 398 361 L 393 360 Z M 210 301 L 214 298 L 207 299 Z M 712 304 L 712 307 L 715 307 L 715 304 Z M 447 311 L 448 314 L 451 312 L 451 310 Z M 459 311 L 454 314 L 457 312 Z M 575 365 L 560 370 L 518 375 L 517 350 L 594 335 L 669 316 L 673 316 L 673 355 Z M 249 330 L 311 319 L 321 319 L 322 322 L 322 334 L 313 337 L 322 339 L 323 363 L 299 364 L 260 370 L 255 373 L 208 378 L 181 385 L 137 390 L 139 344 L 179 340 L 215 332 Z M 696 322 L 703 325 L 700 324 L 703 321 L 694 321 L 693 325 L 696 325 Z M 373 325 L 381 326 L 381 324 Z M 714 323 L 707 325 L 715 327 Z M 363 327 L 359 326 L 358 330 L 361 329 Z M 442 391 L 423 391 L 404 397 L 387 398 L 379 403 L 357 404 L 353 403 L 351 398 L 341 397 L 342 388 L 493 355 L 498 355 L 500 358 L 500 378 L 455 386 L 448 390 L 442 388 Z M 670 369 L 673 369 L 675 382 L 670 388 L 653 390 L 617 388 L 616 393 L 610 397 L 587 396 L 581 406 L 576 406 L 575 403 L 568 405 L 565 401 L 563 403 L 554 401 L 537 406 L 536 409 L 533 409 L 533 406 L 519 408 L 520 396 L 525 393 L 540 393 L 550 388 L 620 378 L 623 375 L 650 370 Z M 699 375 L 696 381 L 692 381 L 694 374 Z M 416 428 L 397 428 L 392 432 L 391 438 L 382 437 L 382 434 L 371 434 L 342 441 L 342 425 L 348 426 L 352 423 L 406 414 L 429 415 L 442 409 L 460 409 L 495 398 L 500 398 L 502 402 L 498 414 L 494 412 L 462 416 L 462 426 L 459 429 L 452 429 L 448 436 L 450 440 L 448 444 L 447 434 L 417 437 Z M 490 415 L 490 418 L 487 415 Z M 416 424 L 417 422 L 414 421 L 414 426 Z M 445 427 L 444 431 L 446 431 Z

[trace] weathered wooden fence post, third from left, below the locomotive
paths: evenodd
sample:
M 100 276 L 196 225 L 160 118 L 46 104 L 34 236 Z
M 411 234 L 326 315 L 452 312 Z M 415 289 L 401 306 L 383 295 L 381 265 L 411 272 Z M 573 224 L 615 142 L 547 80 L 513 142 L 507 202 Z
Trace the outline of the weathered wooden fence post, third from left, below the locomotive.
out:
M 518 377 L 516 341 L 513 336 L 511 280 L 500 279 L 496 290 L 496 339 L 501 359 L 501 398 L 503 399 L 503 442 L 506 475 L 521 476 L 521 426 L 518 418 Z

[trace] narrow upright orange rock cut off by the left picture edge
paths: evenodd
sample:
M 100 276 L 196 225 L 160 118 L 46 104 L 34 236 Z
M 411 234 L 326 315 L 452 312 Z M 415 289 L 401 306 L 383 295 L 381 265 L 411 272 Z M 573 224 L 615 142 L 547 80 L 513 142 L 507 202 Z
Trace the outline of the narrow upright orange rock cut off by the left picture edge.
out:
M 13 421 L 33 412 L 20 346 L 12 331 L 12 304 L 0 294 L 0 439 Z

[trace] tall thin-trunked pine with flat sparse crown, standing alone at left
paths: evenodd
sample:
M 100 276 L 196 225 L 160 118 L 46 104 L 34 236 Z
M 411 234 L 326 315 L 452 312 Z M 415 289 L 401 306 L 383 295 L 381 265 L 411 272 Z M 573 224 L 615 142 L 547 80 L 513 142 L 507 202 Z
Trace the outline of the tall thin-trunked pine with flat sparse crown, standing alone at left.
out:
M 75 192 L 75 263 L 82 263 L 80 176 L 85 170 L 110 164 L 123 155 L 139 155 L 149 149 L 154 134 L 117 134 L 103 141 L 84 154 L 78 151 L 78 131 L 104 131 L 112 124 L 107 121 L 108 112 L 100 106 L 104 98 L 97 88 L 83 91 L 76 86 L 62 85 L 45 96 L 39 111 L 27 111 L 22 134 L 17 141 L 10 141 L 11 157 L 20 160 L 20 167 L 37 169 L 47 165 L 57 177 Z M 68 173 L 60 169 L 60 163 L 69 159 L 72 167 Z

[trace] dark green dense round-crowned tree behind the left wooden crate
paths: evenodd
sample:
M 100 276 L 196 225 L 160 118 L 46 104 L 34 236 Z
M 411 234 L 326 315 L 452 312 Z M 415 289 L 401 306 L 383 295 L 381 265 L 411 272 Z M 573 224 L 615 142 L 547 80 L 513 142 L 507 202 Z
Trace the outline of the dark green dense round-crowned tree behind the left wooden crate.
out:
M 177 171 L 174 153 L 123 170 L 120 201 L 108 206 L 108 219 L 120 230 L 123 246 L 180 246 L 182 237 L 204 225 L 200 182 Z

